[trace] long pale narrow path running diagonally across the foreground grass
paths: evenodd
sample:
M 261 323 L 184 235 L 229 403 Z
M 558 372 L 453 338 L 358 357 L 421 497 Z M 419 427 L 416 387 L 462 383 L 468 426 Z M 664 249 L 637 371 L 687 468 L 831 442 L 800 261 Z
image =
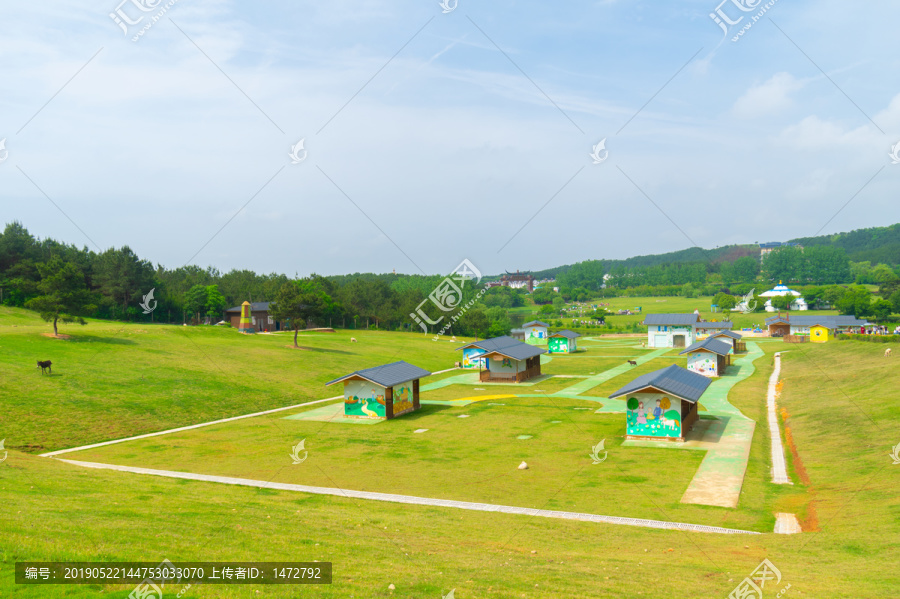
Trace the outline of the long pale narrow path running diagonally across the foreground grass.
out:
M 739 530 L 735 528 L 720 528 L 718 526 L 705 526 L 702 524 L 686 524 L 683 522 L 664 522 L 662 520 L 643 520 L 640 518 L 621 518 L 617 516 L 599 516 L 597 514 L 585 514 L 580 512 L 557 512 L 551 510 L 539 510 L 509 505 L 497 505 L 492 503 L 472 503 L 469 501 L 453 501 L 450 499 L 431 499 L 428 497 L 415 497 L 412 495 L 393 495 L 390 493 L 371 493 L 368 491 L 349 491 L 330 487 L 310 487 L 307 485 L 294 485 L 287 483 L 265 482 L 248 478 L 232 478 L 229 476 L 214 476 L 210 474 L 194 474 L 191 472 L 175 472 L 173 470 L 153 470 L 150 468 L 134 468 L 131 466 L 116 466 L 114 464 L 98 464 L 96 462 L 79 462 L 77 460 L 64 460 L 67 464 L 82 466 L 84 468 L 99 468 L 103 470 L 116 470 L 118 472 L 131 472 L 133 474 L 149 474 L 152 476 L 164 476 L 167 478 L 180 478 L 187 480 L 199 480 L 205 482 L 221 483 L 226 485 L 240 485 L 245 487 L 259 487 L 266 489 L 279 489 L 282 491 L 296 491 L 311 493 L 314 495 L 335 495 L 353 499 L 368 499 L 374 501 L 389 501 L 391 503 L 405 503 L 413 505 L 428 505 L 434 507 L 451 507 L 462 510 L 479 512 L 499 512 L 503 514 L 517 514 L 522 516 L 540 516 L 543 518 L 561 518 L 566 520 L 583 520 L 587 522 L 603 522 L 605 524 L 624 524 L 626 526 L 641 526 L 644 528 L 659 528 L 663 530 L 686 530 L 691 532 L 707 532 L 719 534 L 748 534 L 756 535 L 758 532 Z

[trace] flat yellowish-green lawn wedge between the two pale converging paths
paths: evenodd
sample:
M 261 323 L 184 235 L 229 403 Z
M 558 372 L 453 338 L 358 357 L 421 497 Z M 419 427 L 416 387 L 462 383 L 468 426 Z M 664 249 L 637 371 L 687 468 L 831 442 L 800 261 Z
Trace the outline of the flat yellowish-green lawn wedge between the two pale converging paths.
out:
M 680 504 L 702 452 L 620 447 L 624 416 L 575 410 L 592 404 L 553 397 L 495 403 L 506 405 L 426 405 L 413 415 L 366 427 L 273 415 L 65 457 L 614 516 L 660 519 L 665 513 L 729 528 L 769 525 L 766 516 Z M 463 414 L 468 417 L 459 418 Z M 428 431 L 413 433 L 421 428 Z M 531 438 L 517 439 L 520 435 Z M 292 466 L 290 448 L 301 439 L 310 458 Z M 595 466 L 588 453 L 601 439 L 611 457 Z M 529 470 L 516 469 L 522 461 Z M 636 484 L 640 493 L 634 493 Z M 629 500 L 623 502 L 623 496 Z

